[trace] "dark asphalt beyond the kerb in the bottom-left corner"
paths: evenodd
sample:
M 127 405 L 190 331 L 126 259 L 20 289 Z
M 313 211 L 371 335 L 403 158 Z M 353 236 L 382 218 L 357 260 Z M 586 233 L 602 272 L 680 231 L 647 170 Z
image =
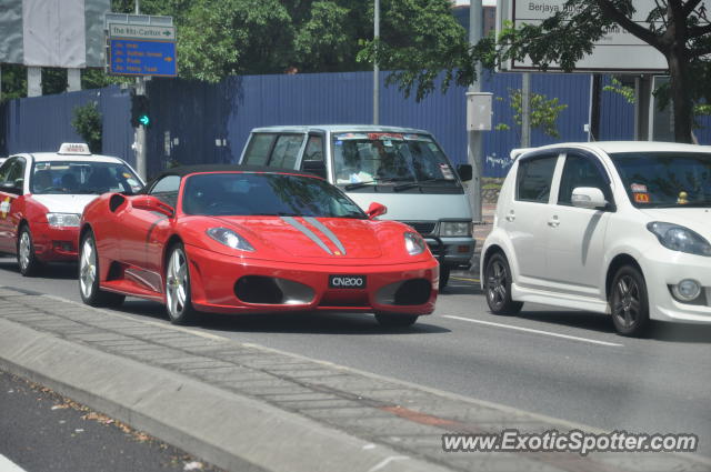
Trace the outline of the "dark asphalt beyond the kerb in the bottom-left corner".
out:
M 180 450 L 2 371 L 0 412 L 0 471 L 3 472 L 17 470 L 7 461 L 26 472 L 218 471 Z

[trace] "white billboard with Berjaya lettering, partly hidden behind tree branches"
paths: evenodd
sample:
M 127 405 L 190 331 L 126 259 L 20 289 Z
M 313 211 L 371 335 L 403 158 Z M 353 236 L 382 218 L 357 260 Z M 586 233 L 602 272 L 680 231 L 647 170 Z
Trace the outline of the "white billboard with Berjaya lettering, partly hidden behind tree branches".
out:
M 632 20 L 644 28 L 649 27 L 647 17 L 657 8 L 654 0 L 632 0 L 637 12 Z M 564 8 L 565 0 L 499 0 L 497 6 L 497 30 L 504 21 L 511 21 L 517 28 L 521 24 L 540 24 Z M 575 64 L 574 72 L 663 72 L 668 64 L 664 56 L 635 36 L 614 24 L 593 47 L 592 53 L 584 56 Z M 502 70 L 534 71 L 531 60 L 509 61 Z M 560 71 L 552 63 L 549 71 Z

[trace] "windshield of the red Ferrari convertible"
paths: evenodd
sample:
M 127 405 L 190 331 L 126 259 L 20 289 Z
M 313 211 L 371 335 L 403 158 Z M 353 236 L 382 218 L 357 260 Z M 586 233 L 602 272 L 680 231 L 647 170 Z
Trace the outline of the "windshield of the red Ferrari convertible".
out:
M 182 209 L 188 214 L 212 217 L 368 218 L 330 183 L 280 173 L 226 172 L 189 177 Z

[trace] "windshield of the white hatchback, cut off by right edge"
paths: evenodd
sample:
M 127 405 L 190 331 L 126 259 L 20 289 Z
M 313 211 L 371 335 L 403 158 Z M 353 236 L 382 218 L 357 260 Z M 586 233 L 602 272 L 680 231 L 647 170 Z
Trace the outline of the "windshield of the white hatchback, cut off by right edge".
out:
M 711 153 L 610 154 L 637 208 L 711 207 Z

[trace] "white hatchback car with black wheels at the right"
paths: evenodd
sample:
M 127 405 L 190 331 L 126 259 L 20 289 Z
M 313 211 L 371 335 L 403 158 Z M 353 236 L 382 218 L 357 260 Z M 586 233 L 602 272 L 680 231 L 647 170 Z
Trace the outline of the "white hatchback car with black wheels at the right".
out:
M 711 323 L 711 147 L 563 143 L 514 150 L 481 283 L 493 313 L 523 302 Z

